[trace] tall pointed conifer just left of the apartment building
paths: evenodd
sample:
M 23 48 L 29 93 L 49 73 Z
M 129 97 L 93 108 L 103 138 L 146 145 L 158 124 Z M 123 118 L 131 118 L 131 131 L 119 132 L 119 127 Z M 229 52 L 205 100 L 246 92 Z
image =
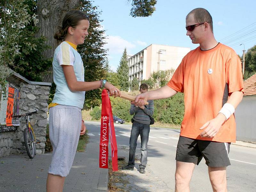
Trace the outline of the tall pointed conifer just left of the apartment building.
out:
M 124 48 L 124 52 L 122 58 L 119 62 L 119 66 L 117 67 L 117 78 L 118 78 L 118 85 L 120 89 L 123 91 L 128 91 L 129 88 L 129 67 L 128 67 L 128 60 L 127 60 L 127 52 L 126 48 Z

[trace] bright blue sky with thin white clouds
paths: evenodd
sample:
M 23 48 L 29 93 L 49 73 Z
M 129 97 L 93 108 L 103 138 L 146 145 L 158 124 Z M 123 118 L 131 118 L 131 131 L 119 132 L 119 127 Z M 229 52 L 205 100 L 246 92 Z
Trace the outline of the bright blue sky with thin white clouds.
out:
M 256 1 L 238 0 L 158 0 L 156 11 L 150 17 L 129 15 L 131 5 L 127 0 L 95 0 L 93 5 L 102 11 L 100 19 L 108 36 L 108 59 L 115 71 L 124 47 L 128 54 L 135 54 L 150 44 L 189 47 L 195 49 L 186 36 L 185 18 L 197 7 L 207 9 L 212 15 L 214 36 L 218 42 L 232 47 L 237 54 L 256 44 Z M 235 34 L 234 34 L 235 33 Z

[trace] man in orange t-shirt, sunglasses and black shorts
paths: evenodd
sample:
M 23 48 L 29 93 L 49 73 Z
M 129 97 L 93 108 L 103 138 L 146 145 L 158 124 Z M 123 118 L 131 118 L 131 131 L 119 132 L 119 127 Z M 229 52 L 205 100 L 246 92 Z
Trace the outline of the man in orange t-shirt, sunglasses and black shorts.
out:
M 196 8 L 186 17 L 187 36 L 199 44 L 181 61 L 170 82 L 140 94 L 133 102 L 172 97 L 184 92 L 185 114 L 176 152 L 175 191 L 189 192 L 195 164 L 204 157 L 213 191 L 227 191 L 230 142 L 236 141 L 234 111 L 243 98 L 241 61 L 213 35 L 212 16 Z

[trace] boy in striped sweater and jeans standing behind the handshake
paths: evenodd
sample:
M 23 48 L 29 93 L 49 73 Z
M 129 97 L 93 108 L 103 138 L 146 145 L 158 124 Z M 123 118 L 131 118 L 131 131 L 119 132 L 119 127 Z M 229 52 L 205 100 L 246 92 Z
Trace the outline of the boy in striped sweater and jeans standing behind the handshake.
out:
M 143 83 L 140 85 L 140 93 L 148 91 L 148 85 Z M 154 101 L 148 100 L 148 105 L 141 107 L 131 104 L 130 114 L 133 115 L 132 130 L 130 136 L 130 151 L 128 165 L 123 169 L 133 170 L 135 161 L 135 151 L 137 146 L 137 140 L 140 135 L 141 140 L 141 157 L 140 157 L 140 173 L 145 173 L 145 167 L 148 162 L 148 136 L 150 131 L 150 118 L 154 114 Z

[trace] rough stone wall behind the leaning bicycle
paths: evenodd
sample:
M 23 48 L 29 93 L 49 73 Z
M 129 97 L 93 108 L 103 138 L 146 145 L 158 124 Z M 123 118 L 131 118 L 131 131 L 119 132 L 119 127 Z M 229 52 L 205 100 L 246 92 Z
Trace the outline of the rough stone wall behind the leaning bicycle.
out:
M 36 152 L 38 154 L 44 153 L 48 117 L 47 101 L 51 84 L 30 82 L 24 77 L 21 78 L 19 74 L 15 75 L 10 77 L 8 81 L 20 86 L 19 115 L 35 111 L 33 108 L 38 110 L 38 113 L 33 114 L 29 119 L 34 128 L 36 141 L 40 141 L 40 143 L 36 144 Z M 26 122 L 20 118 L 20 126 L 15 127 L 15 131 L 0 132 L 0 157 L 8 156 L 11 153 L 26 153 L 25 146 L 22 146 L 22 142 L 24 142 L 23 130 L 26 127 Z

